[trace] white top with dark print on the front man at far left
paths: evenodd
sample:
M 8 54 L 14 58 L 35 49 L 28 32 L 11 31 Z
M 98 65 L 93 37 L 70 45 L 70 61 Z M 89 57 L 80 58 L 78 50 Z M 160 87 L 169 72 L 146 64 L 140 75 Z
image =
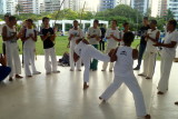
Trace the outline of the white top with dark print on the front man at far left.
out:
M 9 28 L 9 26 L 6 26 L 7 27 L 7 37 L 12 37 L 17 31 L 16 31 L 16 27 L 13 27 L 13 29 Z M 8 40 L 9 42 L 17 42 L 17 39 L 13 38 L 13 39 L 10 39 Z

